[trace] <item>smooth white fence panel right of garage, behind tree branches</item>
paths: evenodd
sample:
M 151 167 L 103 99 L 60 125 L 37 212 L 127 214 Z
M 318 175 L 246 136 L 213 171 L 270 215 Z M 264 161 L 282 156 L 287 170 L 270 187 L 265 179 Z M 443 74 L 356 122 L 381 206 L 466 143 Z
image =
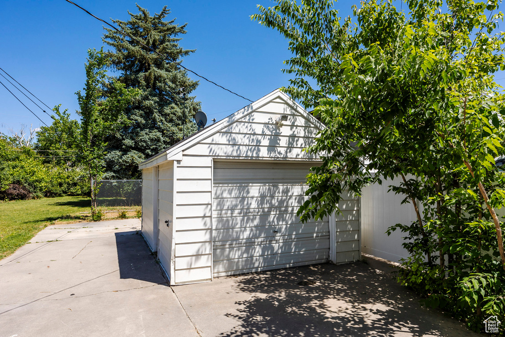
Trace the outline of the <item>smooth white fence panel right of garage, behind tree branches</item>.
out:
M 361 198 L 361 248 L 362 252 L 386 260 L 398 262 L 409 253 L 401 247 L 403 236 L 395 230 L 390 236 L 387 229 L 397 223 L 410 225 L 416 221 L 416 212 L 411 203 L 401 205 L 405 198 L 388 192 L 389 185 L 399 186 L 401 177 L 384 180 L 382 185 L 373 184 L 363 189 Z

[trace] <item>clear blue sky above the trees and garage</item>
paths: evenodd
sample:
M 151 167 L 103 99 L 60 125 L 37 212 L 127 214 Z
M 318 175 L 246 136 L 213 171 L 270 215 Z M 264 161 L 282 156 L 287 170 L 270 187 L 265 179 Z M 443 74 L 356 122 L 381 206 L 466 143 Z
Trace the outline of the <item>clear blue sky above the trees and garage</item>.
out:
M 136 13 L 135 3 L 151 13 L 167 5 L 177 18 L 188 23 L 187 34 L 180 42 L 196 52 L 184 59 L 183 65 L 211 80 L 257 100 L 270 91 L 287 85 L 283 61 L 290 57 L 288 42 L 278 32 L 250 20 L 257 4 L 265 0 L 197 1 L 179 0 L 75 0 L 91 13 L 106 19 L 128 20 L 128 10 Z M 351 13 L 358 1 L 340 1 L 336 7 L 342 17 Z M 61 104 L 73 117 L 78 109 L 75 92 L 84 86 L 84 63 L 87 50 L 103 45 L 102 23 L 64 0 L 2 0 L 0 11 L 0 67 L 32 91 L 49 107 Z M 198 79 L 190 74 L 192 79 Z M 505 77 L 501 73 L 498 78 Z M 13 89 L 11 91 L 45 123 L 51 119 Z M 502 85 L 505 79 L 498 81 Z M 193 92 L 209 120 L 220 120 L 246 106 L 247 101 L 204 80 Z M 0 132 L 18 130 L 21 124 L 40 126 L 40 122 L 12 95 L 0 86 Z

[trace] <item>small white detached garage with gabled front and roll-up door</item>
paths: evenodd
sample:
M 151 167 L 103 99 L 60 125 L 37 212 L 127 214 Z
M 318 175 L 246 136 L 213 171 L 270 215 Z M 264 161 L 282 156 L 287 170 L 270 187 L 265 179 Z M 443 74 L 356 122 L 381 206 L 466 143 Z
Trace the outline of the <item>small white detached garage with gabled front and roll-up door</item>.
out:
M 282 120 L 282 123 L 280 124 Z M 280 90 L 139 165 L 142 234 L 171 284 L 360 257 L 360 201 L 301 223 L 324 126 Z

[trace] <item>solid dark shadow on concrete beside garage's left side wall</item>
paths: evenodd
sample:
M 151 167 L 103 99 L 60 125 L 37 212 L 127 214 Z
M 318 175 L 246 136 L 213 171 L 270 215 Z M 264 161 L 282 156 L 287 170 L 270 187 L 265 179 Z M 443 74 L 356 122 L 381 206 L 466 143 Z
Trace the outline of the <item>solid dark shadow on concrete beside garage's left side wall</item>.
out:
M 115 236 L 120 278 L 168 285 L 160 265 L 138 231 L 117 232 Z

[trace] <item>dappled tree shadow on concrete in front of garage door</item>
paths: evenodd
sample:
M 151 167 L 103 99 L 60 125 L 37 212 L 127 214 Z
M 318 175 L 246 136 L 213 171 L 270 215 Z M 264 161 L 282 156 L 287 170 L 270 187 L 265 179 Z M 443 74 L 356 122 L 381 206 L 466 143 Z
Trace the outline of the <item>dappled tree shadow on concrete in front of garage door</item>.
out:
M 379 263 L 379 265 L 377 265 Z M 381 264 L 382 263 L 382 264 Z M 373 266 L 372 266 L 373 265 Z M 478 335 L 459 321 L 422 308 L 383 262 L 320 264 L 236 277 L 240 322 L 222 336 Z

